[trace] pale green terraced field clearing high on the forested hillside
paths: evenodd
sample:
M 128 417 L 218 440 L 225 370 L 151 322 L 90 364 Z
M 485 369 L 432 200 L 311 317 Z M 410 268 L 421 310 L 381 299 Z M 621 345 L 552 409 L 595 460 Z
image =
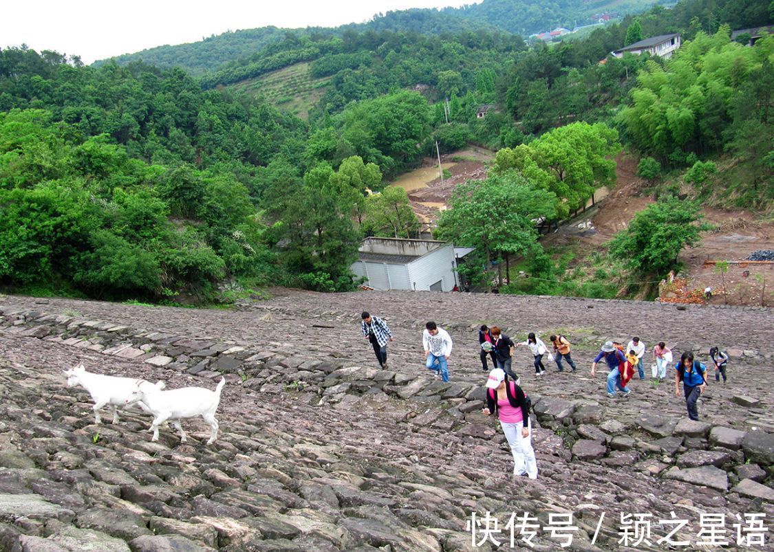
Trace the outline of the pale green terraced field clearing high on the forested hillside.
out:
M 249 94 L 263 94 L 276 107 L 307 119 L 309 110 L 323 96 L 330 81 L 330 77 L 313 78 L 309 65 L 308 62 L 296 63 L 255 79 L 243 80 L 234 88 Z

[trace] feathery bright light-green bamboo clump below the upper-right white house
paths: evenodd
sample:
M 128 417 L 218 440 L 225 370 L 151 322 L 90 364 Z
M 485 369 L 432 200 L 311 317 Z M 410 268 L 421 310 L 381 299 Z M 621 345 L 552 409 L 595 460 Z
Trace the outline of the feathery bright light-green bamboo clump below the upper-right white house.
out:
M 738 129 L 765 120 L 772 53 L 774 37 L 748 48 L 731 43 L 727 27 L 713 36 L 699 32 L 663 66 L 646 62 L 618 121 L 634 145 L 661 162 L 721 152 L 735 135 L 732 120 Z

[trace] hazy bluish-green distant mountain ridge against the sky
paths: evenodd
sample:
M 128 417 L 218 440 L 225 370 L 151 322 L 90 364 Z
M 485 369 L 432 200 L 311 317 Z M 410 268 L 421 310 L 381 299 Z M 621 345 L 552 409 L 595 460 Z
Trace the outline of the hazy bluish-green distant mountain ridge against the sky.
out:
M 441 34 L 478 30 L 509 32 L 529 36 L 557 26 L 572 27 L 591 22 L 591 15 L 644 12 L 670 0 L 484 0 L 461 8 L 406 9 L 377 14 L 365 23 L 350 23 L 336 28 L 308 27 L 280 29 L 261 27 L 224 32 L 195 43 L 156 46 L 141 52 L 111 58 L 119 65 L 142 61 L 166 69 L 181 67 L 194 74 L 221 69 L 228 63 L 245 59 L 259 50 L 281 42 L 292 32 L 297 36 L 317 34 L 344 36 L 347 32 L 393 31 Z M 99 60 L 101 65 L 107 60 Z

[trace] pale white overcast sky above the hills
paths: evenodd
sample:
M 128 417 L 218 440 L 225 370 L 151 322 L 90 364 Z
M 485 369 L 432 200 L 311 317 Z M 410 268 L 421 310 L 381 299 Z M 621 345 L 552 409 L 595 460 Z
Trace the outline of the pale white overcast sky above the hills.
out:
M 163 44 L 190 43 L 228 30 L 338 26 L 378 12 L 440 8 L 480 0 L 27 0 L 2 2 L 0 48 L 78 55 L 84 63 Z

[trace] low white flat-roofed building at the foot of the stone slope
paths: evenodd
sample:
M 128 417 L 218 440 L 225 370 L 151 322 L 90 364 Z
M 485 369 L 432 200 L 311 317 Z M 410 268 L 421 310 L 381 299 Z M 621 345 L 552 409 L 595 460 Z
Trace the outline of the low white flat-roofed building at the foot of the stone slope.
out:
M 445 241 L 368 237 L 352 272 L 377 290 L 452 291 L 454 245 Z

